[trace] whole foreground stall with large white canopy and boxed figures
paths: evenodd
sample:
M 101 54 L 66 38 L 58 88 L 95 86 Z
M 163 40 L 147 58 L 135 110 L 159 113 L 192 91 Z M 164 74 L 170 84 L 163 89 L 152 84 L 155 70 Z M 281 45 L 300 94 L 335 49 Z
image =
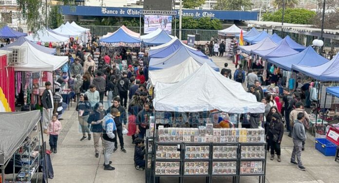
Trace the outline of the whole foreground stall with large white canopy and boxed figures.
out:
M 264 183 L 264 129 L 232 128 L 238 125 L 232 114 L 263 113 L 264 104 L 240 83 L 204 64 L 178 83 L 157 83 L 154 92 L 146 182 L 153 175 L 153 182 L 160 177 L 177 177 L 179 183 L 186 177 L 205 177 L 210 183 L 212 177 L 231 176 L 238 183 L 241 176 L 259 176 Z M 226 116 L 218 124 L 214 114 L 208 114 L 211 110 Z M 228 128 L 220 128 L 226 123 Z

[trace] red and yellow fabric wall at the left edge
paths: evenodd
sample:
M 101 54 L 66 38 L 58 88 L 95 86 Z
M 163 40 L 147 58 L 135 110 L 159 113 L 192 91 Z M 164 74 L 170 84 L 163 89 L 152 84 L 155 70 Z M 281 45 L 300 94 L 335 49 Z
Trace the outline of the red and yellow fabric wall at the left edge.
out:
M 0 102 L 5 112 L 15 111 L 15 73 L 13 67 L 7 67 L 7 56 L 0 56 Z M 8 74 L 7 74 L 8 73 Z

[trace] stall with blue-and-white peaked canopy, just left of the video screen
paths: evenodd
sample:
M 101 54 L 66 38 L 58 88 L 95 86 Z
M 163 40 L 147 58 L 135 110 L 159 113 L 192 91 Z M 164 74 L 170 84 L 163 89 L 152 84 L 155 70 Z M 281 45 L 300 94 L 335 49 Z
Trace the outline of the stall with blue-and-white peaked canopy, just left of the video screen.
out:
M 131 30 L 127 29 L 125 26 L 120 27 L 117 31 L 111 35 L 100 38 L 101 53 L 109 53 L 111 58 L 114 58 L 120 53 L 131 52 L 132 62 L 137 62 L 138 55 L 141 47 L 141 39 L 138 36 L 138 33 L 134 33 Z M 124 50 L 124 51 L 123 51 Z M 119 64 L 120 70 L 127 70 L 127 55 L 122 55 L 122 61 L 114 61 L 116 64 Z

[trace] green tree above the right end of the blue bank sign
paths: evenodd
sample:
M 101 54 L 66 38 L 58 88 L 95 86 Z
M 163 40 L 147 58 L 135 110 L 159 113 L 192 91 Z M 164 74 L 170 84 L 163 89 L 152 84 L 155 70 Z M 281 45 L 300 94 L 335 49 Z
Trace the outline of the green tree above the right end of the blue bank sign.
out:
M 217 5 L 214 9 L 217 10 L 251 10 L 251 0 L 217 0 Z

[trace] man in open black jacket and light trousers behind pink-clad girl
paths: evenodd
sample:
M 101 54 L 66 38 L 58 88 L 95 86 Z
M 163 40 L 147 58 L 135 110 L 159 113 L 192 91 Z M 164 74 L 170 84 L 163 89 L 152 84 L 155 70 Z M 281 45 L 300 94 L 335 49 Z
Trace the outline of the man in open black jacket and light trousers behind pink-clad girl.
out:
M 53 101 L 53 93 L 51 90 L 51 82 L 45 83 L 46 89 L 42 93 L 41 103 L 43 106 L 42 119 L 43 119 L 43 132 L 47 133 L 47 126 L 49 121 L 53 116 L 54 109 L 54 101 Z

